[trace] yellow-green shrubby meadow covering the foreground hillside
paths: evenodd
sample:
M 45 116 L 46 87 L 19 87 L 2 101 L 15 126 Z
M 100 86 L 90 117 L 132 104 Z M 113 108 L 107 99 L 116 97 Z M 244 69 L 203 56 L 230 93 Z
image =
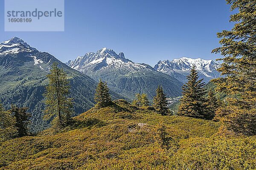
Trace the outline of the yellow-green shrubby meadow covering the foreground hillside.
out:
M 82 113 L 61 132 L 50 128 L 1 143 L 0 170 L 256 169 L 255 136 L 222 137 L 218 122 L 113 103 Z M 168 147 L 161 147 L 157 128 Z

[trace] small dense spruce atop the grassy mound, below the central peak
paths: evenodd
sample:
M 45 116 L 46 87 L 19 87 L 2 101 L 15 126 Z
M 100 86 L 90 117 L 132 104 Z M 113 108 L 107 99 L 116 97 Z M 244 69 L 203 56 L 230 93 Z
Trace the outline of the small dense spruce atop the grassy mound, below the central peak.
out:
M 96 102 L 96 107 L 98 108 L 104 108 L 106 106 L 112 105 L 108 85 L 107 83 L 102 82 L 101 79 L 99 80 L 99 83 L 96 88 L 94 101 Z

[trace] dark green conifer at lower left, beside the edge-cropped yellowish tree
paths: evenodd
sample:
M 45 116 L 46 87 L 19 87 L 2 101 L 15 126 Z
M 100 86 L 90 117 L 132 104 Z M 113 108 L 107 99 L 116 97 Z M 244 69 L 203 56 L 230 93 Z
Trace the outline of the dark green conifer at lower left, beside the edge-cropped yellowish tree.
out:
M 17 128 L 17 136 L 23 137 L 29 134 L 30 113 L 27 113 L 28 108 L 18 108 L 15 105 L 11 106 L 9 112 L 15 117 L 15 127 Z

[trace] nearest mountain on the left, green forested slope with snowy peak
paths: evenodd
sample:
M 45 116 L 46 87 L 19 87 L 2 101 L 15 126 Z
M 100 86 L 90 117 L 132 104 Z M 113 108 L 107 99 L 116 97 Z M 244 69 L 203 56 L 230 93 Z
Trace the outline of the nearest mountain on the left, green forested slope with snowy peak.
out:
M 69 77 L 75 115 L 91 108 L 96 87 L 93 79 L 68 67 L 51 54 L 30 47 L 20 38 L 0 42 L 0 102 L 6 109 L 11 104 L 28 107 L 28 111 L 32 113 L 33 132 L 49 125 L 43 121 L 42 94 L 47 85 L 46 75 L 53 62 L 57 62 Z

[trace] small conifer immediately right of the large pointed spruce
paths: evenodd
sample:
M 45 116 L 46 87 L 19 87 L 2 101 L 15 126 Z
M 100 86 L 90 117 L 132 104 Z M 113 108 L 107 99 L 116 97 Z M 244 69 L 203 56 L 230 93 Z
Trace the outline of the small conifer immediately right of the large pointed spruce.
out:
M 219 101 L 216 98 L 215 94 L 212 90 L 208 91 L 206 109 L 207 109 L 207 119 L 213 119 L 215 116 L 215 112 L 217 111 L 219 106 Z

